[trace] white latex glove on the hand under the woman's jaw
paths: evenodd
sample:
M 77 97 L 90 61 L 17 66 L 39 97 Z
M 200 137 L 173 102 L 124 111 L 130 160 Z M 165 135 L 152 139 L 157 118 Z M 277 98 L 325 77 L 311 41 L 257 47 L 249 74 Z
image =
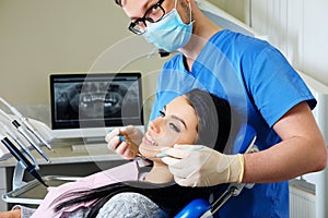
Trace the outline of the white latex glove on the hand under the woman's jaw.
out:
M 183 186 L 212 186 L 222 183 L 241 183 L 244 174 L 244 156 L 224 155 L 206 146 L 175 145 L 163 149 L 176 183 Z

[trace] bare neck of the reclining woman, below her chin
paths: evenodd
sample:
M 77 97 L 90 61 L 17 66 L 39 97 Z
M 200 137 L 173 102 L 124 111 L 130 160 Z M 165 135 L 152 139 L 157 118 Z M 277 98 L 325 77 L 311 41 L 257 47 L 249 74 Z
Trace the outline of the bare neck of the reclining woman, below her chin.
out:
M 144 181 L 152 183 L 166 183 L 173 181 L 173 174 L 164 164 L 155 162 L 151 171 L 145 175 Z

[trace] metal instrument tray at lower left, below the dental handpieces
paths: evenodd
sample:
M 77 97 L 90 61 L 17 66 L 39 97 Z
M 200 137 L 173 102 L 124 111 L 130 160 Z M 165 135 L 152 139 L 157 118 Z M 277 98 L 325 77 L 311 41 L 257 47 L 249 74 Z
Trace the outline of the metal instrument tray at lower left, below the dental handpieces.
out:
M 57 187 L 67 182 L 74 182 L 79 177 L 46 175 L 43 180 L 49 185 L 48 189 Z M 7 203 L 39 205 L 48 193 L 48 189 L 37 180 L 26 182 L 23 186 L 2 195 Z

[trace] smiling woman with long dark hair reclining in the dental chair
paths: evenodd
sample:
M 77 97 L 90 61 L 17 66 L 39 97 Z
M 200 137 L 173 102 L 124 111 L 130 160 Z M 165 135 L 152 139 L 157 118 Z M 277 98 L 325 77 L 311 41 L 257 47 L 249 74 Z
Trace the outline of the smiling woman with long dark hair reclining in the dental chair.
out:
M 200 144 L 212 145 L 223 152 L 230 129 L 231 110 L 227 101 L 194 89 L 171 101 L 161 111 L 161 117 L 150 122 L 139 153 L 152 160 L 153 166 L 144 177 L 139 177 L 139 181 L 115 182 L 92 190 L 61 193 L 51 198 L 49 208 L 42 204 L 32 217 L 48 214 L 49 210 L 54 213 L 52 217 L 71 218 L 172 217 L 190 201 L 208 198 L 213 187 L 183 187 L 174 183 L 168 167 L 159 156 L 161 148 L 174 144 Z M 124 205 L 126 201 L 129 201 L 129 208 Z M 136 205 L 131 202 L 136 202 Z M 67 213 L 70 207 L 74 209 Z M 9 213 L 12 217 L 28 217 L 22 216 L 20 209 Z M 10 217 L 9 213 L 0 213 L 0 217 Z

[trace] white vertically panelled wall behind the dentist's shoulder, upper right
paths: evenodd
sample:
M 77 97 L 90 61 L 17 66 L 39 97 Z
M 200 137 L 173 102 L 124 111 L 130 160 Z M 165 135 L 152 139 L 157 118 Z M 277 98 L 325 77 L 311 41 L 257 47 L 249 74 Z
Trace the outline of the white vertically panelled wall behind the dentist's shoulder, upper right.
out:
M 328 85 L 328 1 L 251 0 L 251 26 L 295 68 Z

